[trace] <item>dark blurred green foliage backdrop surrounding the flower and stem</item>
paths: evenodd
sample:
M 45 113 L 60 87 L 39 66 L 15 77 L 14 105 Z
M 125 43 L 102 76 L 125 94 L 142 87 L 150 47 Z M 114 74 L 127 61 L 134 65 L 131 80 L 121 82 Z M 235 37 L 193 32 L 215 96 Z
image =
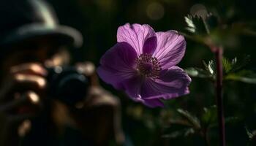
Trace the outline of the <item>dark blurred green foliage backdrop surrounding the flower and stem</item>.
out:
M 197 66 L 187 69 L 193 77 L 190 93 L 165 101 L 165 108 L 143 107 L 102 82 L 121 99 L 126 145 L 206 145 L 202 134 L 206 127 L 211 127 L 208 142 L 217 145 L 214 88 L 206 80 L 215 77 L 214 56 L 208 49 L 211 43 L 225 48 L 225 80 L 230 80 L 224 84 L 225 116 L 226 122 L 232 121 L 226 126 L 227 145 L 253 145 L 255 139 L 249 137 L 255 134 L 244 127 L 256 129 L 256 86 L 245 83 L 255 83 L 255 0 L 48 1 L 60 23 L 78 28 L 84 36 L 82 49 L 72 50 L 75 61 L 93 61 L 97 66 L 99 58 L 116 43 L 118 26 L 127 22 L 148 23 L 155 31 L 178 30 L 188 38 L 187 53 L 178 66 Z M 236 58 L 241 54 L 249 54 L 251 60 Z M 203 60 L 209 62 L 202 64 Z

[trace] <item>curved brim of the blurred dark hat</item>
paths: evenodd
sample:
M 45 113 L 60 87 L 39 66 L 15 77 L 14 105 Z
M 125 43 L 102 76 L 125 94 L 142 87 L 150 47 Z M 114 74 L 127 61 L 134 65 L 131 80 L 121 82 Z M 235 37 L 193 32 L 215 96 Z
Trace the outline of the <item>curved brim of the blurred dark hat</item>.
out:
M 83 37 L 75 28 L 48 26 L 45 24 L 22 26 L 1 39 L 0 45 L 12 45 L 37 37 L 51 37 L 56 39 L 60 45 L 71 45 L 72 47 L 81 47 L 83 45 Z

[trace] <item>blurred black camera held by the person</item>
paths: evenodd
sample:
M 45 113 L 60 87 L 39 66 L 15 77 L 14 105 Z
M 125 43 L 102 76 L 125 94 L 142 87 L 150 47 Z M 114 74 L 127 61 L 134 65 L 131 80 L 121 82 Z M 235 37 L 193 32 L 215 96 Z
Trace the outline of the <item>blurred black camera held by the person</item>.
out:
M 83 101 L 89 88 L 88 78 L 75 66 L 48 68 L 48 95 L 74 106 Z

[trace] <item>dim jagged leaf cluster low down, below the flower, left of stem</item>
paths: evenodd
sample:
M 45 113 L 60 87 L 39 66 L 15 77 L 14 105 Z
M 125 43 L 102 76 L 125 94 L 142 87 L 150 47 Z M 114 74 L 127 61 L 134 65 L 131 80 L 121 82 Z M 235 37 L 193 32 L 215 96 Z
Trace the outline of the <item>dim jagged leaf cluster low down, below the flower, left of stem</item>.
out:
M 200 116 L 195 116 L 191 112 L 183 109 L 177 110 L 180 118 L 170 120 L 170 127 L 165 129 L 165 138 L 188 137 L 192 134 L 198 134 L 206 137 L 210 128 L 217 127 L 217 106 L 204 107 Z M 238 120 L 235 117 L 225 118 L 225 123 L 231 123 Z

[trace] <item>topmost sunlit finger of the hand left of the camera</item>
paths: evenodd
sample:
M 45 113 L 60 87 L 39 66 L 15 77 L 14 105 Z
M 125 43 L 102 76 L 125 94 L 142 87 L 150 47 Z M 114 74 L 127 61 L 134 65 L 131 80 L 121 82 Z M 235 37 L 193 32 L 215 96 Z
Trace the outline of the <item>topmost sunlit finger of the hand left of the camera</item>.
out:
M 45 77 L 48 74 L 47 70 L 44 67 L 42 67 L 41 64 L 38 63 L 28 63 L 18 66 L 12 66 L 10 72 L 12 74 L 35 74 L 43 77 Z

